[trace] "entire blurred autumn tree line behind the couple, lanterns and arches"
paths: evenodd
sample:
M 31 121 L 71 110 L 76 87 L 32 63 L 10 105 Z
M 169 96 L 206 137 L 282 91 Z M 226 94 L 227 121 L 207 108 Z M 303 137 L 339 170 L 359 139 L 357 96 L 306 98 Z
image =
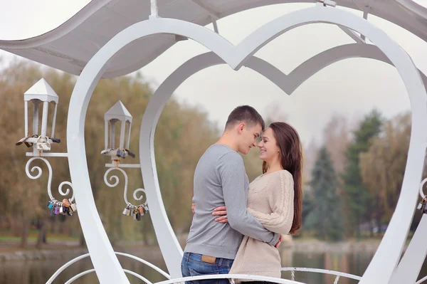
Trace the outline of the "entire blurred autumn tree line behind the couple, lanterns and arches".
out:
M 49 241 L 51 234 L 80 239 L 84 245 L 78 216 L 49 216 L 46 202 L 48 170 L 35 161 L 31 166 L 43 169 L 40 179 L 28 179 L 25 165 L 28 148 L 15 143 L 23 137 L 23 93 L 40 78 L 45 78 L 59 96 L 56 136 L 52 152 L 66 152 L 68 104 L 76 77 L 27 61 L 13 61 L 0 71 L 0 232 L 21 239 L 28 245 L 28 235 L 36 232 L 36 246 Z M 85 120 L 85 147 L 90 182 L 105 230 L 112 241 L 155 243 L 149 216 L 141 221 L 122 215 L 124 177 L 110 188 L 104 183 L 108 157 L 100 154 L 104 147 L 104 113 L 121 100 L 133 116 L 130 149 L 137 152 L 139 127 L 152 96 L 152 88 L 137 73 L 115 79 L 102 79 L 90 100 Z M 256 106 L 255 106 L 256 107 Z M 275 115 L 277 115 L 275 111 Z M 29 112 L 32 117 L 32 112 Z M 48 120 L 52 120 L 52 113 Z M 275 119 L 276 118 L 276 119 Z M 280 116 L 285 120 L 285 116 Z M 277 120 L 274 115 L 267 121 Z M 29 120 L 31 122 L 31 119 Z M 354 130 L 350 130 L 353 128 Z M 31 127 L 30 127 L 31 129 Z M 411 132 L 409 114 L 384 120 L 377 111 L 349 126 L 344 117 L 334 116 L 325 127 L 324 143 L 304 145 L 303 222 L 300 236 L 315 236 L 327 241 L 381 234 L 391 218 L 399 198 Z M 159 185 L 167 216 L 175 233 L 185 234 L 191 224 L 193 174 L 201 154 L 221 135 L 218 125 L 208 119 L 206 111 L 179 102 L 173 96 L 164 107 L 155 133 L 155 157 Z M 127 158 L 129 163 L 139 163 Z M 66 158 L 48 158 L 53 168 L 52 193 L 57 199 L 58 185 L 70 181 Z M 261 174 L 258 152 L 243 157 L 249 179 Z M 125 169 L 129 177 L 127 198 L 134 189 L 144 187 L 139 169 Z M 109 176 L 109 177 L 110 177 Z M 70 197 L 70 196 L 68 196 Z M 133 201 L 133 200 L 132 200 Z M 78 201 L 77 201 L 78 202 Z M 137 201 L 135 201 L 137 203 Z M 78 214 L 78 211 L 77 211 Z M 419 219 L 419 217 L 418 217 Z

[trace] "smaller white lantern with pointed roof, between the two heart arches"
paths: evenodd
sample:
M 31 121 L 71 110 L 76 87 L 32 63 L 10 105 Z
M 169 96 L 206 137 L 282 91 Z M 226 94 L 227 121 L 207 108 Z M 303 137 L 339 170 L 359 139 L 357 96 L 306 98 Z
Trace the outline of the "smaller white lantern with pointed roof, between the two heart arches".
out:
M 110 110 L 105 112 L 105 149 L 101 154 L 112 157 L 112 160 L 120 160 L 127 156 L 135 157 L 135 154 L 130 152 L 130 127 L 132 125 L 132 115 L 127 110 L 125 105 L 119 100 L 113 105 Z M 116 123 L 120 122 L 120 140 L 119 144 L 115 144 L 116 140 Z

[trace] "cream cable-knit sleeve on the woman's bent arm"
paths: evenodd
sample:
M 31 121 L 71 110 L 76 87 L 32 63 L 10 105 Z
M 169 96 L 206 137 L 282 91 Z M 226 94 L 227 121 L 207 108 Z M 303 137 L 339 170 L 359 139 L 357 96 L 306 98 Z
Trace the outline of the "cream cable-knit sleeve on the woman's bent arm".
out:
M 292 227 L 294 211 L 294 182 L 292 174 L 282 171 L 270 177 L 265 188 L 268 194 L 268 204 L 272 213 L 264 214 L 248 209 L 255 219 L 263 226 L 275 233 L 288 234 Z

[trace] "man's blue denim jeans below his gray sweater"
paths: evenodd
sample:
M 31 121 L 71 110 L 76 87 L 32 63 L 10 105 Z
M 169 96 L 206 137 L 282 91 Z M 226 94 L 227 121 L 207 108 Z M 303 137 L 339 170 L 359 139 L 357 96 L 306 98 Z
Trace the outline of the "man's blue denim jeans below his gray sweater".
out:
M 228 274 L 233 259 L 216 258 L 215 263 L 201 261 L 199 253 L 184 253 L 181 262 L 182 277 L 208 274 Z M 186 284 L 230 284 L 228 279 L 209 279 L 186 281 Z

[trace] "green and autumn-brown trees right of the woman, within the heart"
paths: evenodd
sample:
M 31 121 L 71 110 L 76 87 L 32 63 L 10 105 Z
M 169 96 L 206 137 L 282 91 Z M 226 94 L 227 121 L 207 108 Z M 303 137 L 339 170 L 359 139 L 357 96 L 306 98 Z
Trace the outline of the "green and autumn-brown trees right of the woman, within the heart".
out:
M 411 114 L 386 120 L 372 110 L 352 132 L 331 125 L 346 125 L 346 120 L 334 117 L 325 129 L 325 144 L 317 151 L 305 191 L 302 235 L 328 241 L 381 237 L 404 179 Z M 420 219 L 416 211 L 412 231 Z

